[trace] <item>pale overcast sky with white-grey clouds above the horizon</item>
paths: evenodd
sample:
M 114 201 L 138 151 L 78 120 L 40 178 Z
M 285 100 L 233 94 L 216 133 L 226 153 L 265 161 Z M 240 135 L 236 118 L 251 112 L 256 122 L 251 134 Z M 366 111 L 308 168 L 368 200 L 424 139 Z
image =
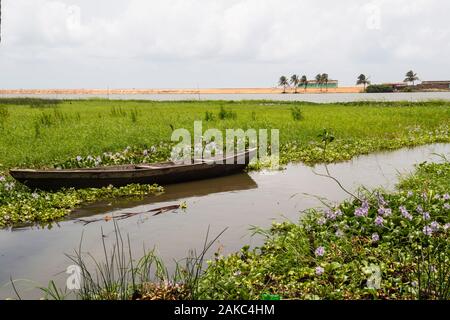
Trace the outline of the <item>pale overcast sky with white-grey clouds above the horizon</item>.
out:
M 1 0 L 0 88 L 450 78 L 450 1 Z

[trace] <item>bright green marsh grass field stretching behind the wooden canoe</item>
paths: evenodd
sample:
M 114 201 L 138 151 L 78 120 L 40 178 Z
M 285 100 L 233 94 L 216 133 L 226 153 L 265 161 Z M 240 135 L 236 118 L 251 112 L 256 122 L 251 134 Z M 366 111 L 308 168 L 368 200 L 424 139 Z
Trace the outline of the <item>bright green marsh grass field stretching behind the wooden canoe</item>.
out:
M 449 142 L 449 119 L 450 103 L 445 101 L 313 104 L 3 99 L 0 226 L 48 222 L 73 207 L 64 204 L 67 200 L 63 196 L 71 194 L 69 191 L 58 193 L 55 197 L 61 199 L 51 208 L 23 201 L 40 193 L 15 184 L 7 174 L 9 168 L 80 168 L 167 160 L 172 130 L 186 128 L 192 132 L 195 120 L 207 120 L 203 130 L 279 129 L 281 162 L 314 164 L 379 150 Z M 325 155 L 317 140 L 323 128 L 335 136 Z M 78 194 L 73 197 L 81 199 L 77 204 L 85 199 Z M 60 207 L 57 202 L 61 202 Z

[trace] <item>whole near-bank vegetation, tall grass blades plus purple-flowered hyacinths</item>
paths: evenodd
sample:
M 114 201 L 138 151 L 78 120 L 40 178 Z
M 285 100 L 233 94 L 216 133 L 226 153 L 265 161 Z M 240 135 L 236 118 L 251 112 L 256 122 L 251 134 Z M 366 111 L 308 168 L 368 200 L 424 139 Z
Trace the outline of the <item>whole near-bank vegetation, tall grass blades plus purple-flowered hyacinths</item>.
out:
M 322 140 L 333 141 L 326 131 Z M 359 199 L 308 210 L 297 224 L 255 229 L 263 246 L 218 252 L 203 269 L 220 234 L 207 238 L 202 253 L 191 253 L 173 273 L 153 251 L 133 261 L 116 228 L 117 244 L 94 261 L 95 272 L 81 248 L 72 257 L 82 269 L 78 298 L 450 299 L 449 189 L 450 162 L 423 163 L 394 193 L 366 190 Z M 53 282 L 44 291 L 64 297 Z

